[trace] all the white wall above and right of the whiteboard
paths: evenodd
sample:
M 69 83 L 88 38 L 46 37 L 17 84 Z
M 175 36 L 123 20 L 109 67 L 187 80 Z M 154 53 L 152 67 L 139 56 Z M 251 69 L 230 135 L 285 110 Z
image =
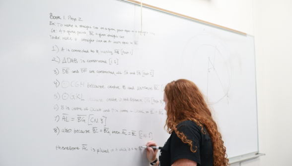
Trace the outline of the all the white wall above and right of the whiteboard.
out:
M 241 166 L 292 166 L 292 0 L 143 2 L 255 36 L 259 148 L 266 156 Z

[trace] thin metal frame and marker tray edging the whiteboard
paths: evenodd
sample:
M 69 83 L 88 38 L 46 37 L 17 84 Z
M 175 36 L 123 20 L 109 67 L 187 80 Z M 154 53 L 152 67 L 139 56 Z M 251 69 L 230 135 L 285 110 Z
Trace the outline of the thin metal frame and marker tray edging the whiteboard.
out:
M 130 3 L 130 4 L 137 5 L 137 6 L 141 6 L 141 4 L 135 2 L 135 0 L 131 0 L 131 1 L 129 1 L 129 0 L 118 0 L 118 1 L 123 1 L 123 2 L 126 2 L 126 3 Z M 158 12 L 162 12 L 162 13 L 165 13 L 165 14 L 169 14 L 171 16 L 176 16 L 176 17 L 183 18 L 183 19 L 186 19 L 186 20 L 189 20 L 189 21 L 193 21 L 193 22 L 196 22 L 196 23 L 200 23 L 200 24 L 203 24 L 203 25 L 210 26 L 210 27 L 218 28 L 218 29 L 221 29 L 221 30 L 224 30 L 224 31 L 232 32 L 232 33 L 235 33 L 235 34 L 238 34 L 238 35 L 251 36 L 251 37 L 253 37 L 253 41 L 254 41 L 254 59 L 256 60 L 255 39 L 254 39 L 253 35 L 245 34 L 243 32 L 239 32 L 239 31 L 236 31 L 236 30 L 225 28 L 225 27 L 222 27 L 222 26 L 219 26 L 219 25 L 216 25 L 216 24 L 212 24 L 212 23 L 208 23 L 208 22 L 205 22 L 205 21 L 199 21 L 199 20 L 196 20 L 196 19 L 191 19 L 191 18 L 188 18 L 188 17 L 184 17 L 183 15 L 174 14 L 174 12 L 167 12 L 167 11 L 164 11 L 164 10 L 159 10 L 157 8 L 154 8 L 154 6 L 150 7 L 150 6 L 146 6 L 144 4 L 145 3 L 142 3 L 142 6 L 145 7 L 145 8 L 148 8 L 148 9 L 151 9 L 151 10 L 155 10 L 155 11 L 158 11 Z M 259 158 L 260 156 L 266 155 L 264 153 L 259 153 L 259 124 L 258 124 L 256 62 L 255 62 L 255 83 L 256 83 L 256 91 L 255 91 L 255 93 L 256 93 L 257 142 L 258 142 L 257 149 L 258 149 L 258 151 L 228 158 L 229 159 L 229 164 L 241 163 L 241 162 L 245 162 L 245 161 L 248 161 L 248 160 L 256 159 L 256 158 Z

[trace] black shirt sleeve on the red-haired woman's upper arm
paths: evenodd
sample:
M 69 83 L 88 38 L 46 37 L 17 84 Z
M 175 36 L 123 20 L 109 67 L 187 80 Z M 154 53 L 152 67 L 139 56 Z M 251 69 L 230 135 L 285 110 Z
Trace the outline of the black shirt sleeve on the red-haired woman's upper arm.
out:
M 201 165 L 200 160 L 200 139 L 201 139 L 201 129 L 198 125 L 189 124 L 191 121 L 184 121 L 178 124 L 177 129 L 180 132 L 183 132 L 186 135 L 188 140 L 192 140 L 193 150 L 191 151 L 191 146 L 187 143 L 183 143 L 182 140 L 176 135 L 175 132 L 171 134 L 170 141 L 170 156 L 171 156 L 171 165 L 178 159 L 189 159 L 198 163 L 198 166 Z

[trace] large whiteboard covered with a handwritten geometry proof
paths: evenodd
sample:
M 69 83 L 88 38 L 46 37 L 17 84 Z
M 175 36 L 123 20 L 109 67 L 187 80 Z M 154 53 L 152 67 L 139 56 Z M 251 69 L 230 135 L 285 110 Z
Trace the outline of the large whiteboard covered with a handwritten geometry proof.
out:
M 148 166 L 165 84 L 210 104 L 228 157 L 258 151 L 254 39 L 118 0 L 2 0 L 0 165 Z M 141 32 L 142 30 L 142 32 Z

